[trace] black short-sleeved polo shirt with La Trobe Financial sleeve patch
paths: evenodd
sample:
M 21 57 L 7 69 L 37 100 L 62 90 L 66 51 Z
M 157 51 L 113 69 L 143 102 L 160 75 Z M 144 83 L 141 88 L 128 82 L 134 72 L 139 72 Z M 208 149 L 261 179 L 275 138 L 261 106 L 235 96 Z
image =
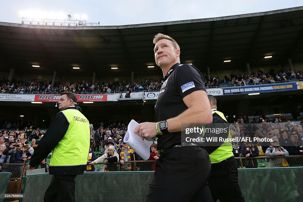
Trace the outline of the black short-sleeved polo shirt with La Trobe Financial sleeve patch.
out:
M 197 68 L 189 64 L 173 65 L 164 77 L 155 105 L 156 121 L 176 117 L 188 109 L 182 99 L 199 90 L 206 91 L 203 77 Z M 158 138 L 158 149 L 181 145 L 181 132 L 158 135 Z

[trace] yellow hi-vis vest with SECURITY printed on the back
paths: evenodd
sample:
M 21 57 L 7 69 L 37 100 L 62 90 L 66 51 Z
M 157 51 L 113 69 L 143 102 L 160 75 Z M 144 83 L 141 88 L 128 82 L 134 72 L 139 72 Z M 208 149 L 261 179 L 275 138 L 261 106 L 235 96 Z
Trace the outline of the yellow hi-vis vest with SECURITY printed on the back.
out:
M 50 166 L 86 165 L 90 145 L 90 128 L 87 118 L 76 109 L 60 111 L 69 122 L 68 129 L 52 151 Z

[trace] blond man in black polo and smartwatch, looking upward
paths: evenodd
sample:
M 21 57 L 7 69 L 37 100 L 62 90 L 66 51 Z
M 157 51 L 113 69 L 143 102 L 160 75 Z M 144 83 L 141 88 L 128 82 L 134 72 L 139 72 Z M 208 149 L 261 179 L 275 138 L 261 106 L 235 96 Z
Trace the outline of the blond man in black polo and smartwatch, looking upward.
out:
M 159 33 L 153 42 L 164 77 L 155 105 L 158 122 L 141 123 L 134 132 L 142 138 L 158 135 L 161 157 L 144 201 L 211 202 L 207 151 L 198 145 L 181 147 L 181 123 L 212 121 L 203 77 L 194 66 L 180 64 L 180 47 L 174 39 Z M 180 191 L 184 187 L 186 191 Z

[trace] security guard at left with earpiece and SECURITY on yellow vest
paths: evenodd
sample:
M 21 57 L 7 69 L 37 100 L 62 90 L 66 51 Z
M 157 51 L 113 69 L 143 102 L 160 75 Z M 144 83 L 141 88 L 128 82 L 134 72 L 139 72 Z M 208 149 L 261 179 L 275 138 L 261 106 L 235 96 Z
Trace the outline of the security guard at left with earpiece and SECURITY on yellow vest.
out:
M 48 127 L 29 163 L 35 169 L 52 151 L 49 174 L 53 181 L 45 192 L 44 201 L 75 201 L 75 177 L 86 169 L 90 144 L 88 119 L 76 107 L 72 92 L 63 92 L 58 102 L 61 110 Z M 81 139 L 81 141 L 79 141 Z

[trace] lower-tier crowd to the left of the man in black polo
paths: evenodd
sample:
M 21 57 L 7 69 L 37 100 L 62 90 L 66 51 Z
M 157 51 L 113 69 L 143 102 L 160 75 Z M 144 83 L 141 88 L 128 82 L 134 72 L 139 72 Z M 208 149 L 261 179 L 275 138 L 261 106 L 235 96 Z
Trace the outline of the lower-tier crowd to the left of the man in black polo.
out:
M 39 128 L 33 129 L 32 125 L 25 126 L 24 130 L 19 130 L 17 126 L 22 124 L 5 122 L 3 124 L 3 130 L 0 131 L 0 164 L 3 163 L 22 163 L 30 160 L 35 147 L 39 144 L 40 139 L 44 135 L 44 131 L 40 131 Z M 99 162 L 117 162 L 122 164 L 120 170 L 133 171 L 134 166 L 127 161 L 142 160 L 132 148 L 130 148 L 123 140 L 127 127 L 124 123 L 112 123 L 107 127 L 103 122 L 98 122 L 97 127 L 93 127 L 90 124 L 91 130 L 91 144 L 90 152 L 88 155 L 87 171 L 95 171 L 95 163 Z M 18 144 L 18 147 L 15 147 Z M 158 159 L 156 152 L 156 144 L 153 145 L 152 160 Z M 22 151 L 22 155 L 19 157 L 18 151 Z M 95 151 L 102 152 L 101 157 L 96 158 Z M 13 153 L 12 153 L 13 152 Z M 24 153 L 24 155 L 23 155 Z M 20 153 L 21 154 L 21 153 Z M 25 157 L 26 154 L 26 157 Z M 92 163 L 93 162 L 93 163 Z M 42 162 L 45 164 L 45 161 Z M 154 169 L 152 167 L 150 169 Z M 3 170 L 3 169 L 2 169 Z M 4 171 L 7 171 L 7 169 Z M 105 171 L 117 171 L 117 164 L 105 166 Z

